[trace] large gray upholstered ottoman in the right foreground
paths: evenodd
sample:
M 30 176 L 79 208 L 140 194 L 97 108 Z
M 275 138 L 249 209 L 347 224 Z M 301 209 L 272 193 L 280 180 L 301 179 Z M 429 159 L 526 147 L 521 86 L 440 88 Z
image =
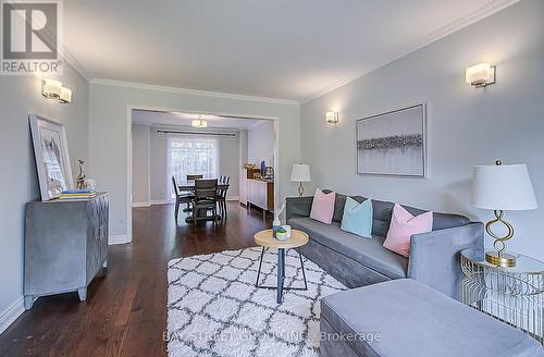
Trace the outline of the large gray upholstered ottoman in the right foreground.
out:
M 534 338 L 408 279 L 326 296 L 321 319 L 338 334 L 367 336 L 348 342 L 361 356 L 544 355 Z M 371 341 L 369 333 L 380 338 Z

